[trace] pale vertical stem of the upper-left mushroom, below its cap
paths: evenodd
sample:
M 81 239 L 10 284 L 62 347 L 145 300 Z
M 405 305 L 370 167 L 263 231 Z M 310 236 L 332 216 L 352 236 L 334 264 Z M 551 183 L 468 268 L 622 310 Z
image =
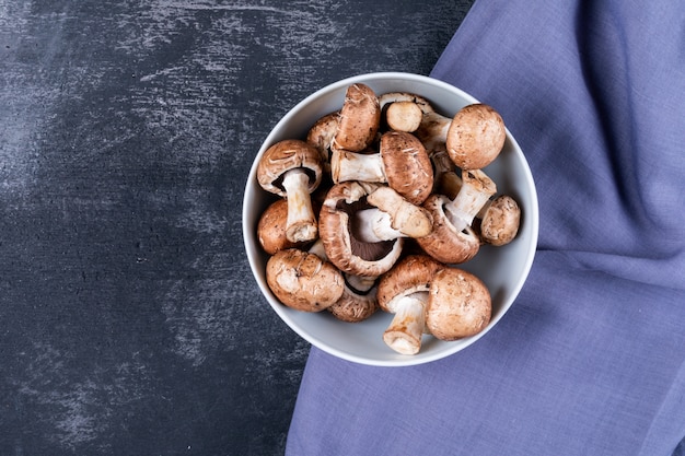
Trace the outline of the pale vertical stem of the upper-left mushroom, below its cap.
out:
M 312 241 L 317 234 L 309 182 L 310 177 L 301 168 L 290 169 L 283 176 L 282 185 L 288 200 L 286 237 L 293 243 Z

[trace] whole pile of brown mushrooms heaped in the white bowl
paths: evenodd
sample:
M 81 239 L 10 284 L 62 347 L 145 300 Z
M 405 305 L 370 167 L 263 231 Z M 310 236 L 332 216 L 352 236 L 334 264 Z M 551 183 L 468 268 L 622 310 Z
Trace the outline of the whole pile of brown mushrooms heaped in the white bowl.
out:
M 289 307 L 344 321 L 394 314 L 380 337 L 403 354 L 418 353 L 423 335 L 478 334 L 490 293 L 457 265 L 518 233 L 519 204 L 483 171 L 504 140 L 488 105 L 450 118 L 417 94 L 348 86 L 339 110 L 258 164 L 259 185 L 279 197 L 257 226 L 269 288 Z

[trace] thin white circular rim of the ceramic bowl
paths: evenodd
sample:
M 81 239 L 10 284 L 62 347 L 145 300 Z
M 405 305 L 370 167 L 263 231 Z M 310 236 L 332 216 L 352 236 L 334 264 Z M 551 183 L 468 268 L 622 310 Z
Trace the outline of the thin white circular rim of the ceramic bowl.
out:
M 535 186 L 535 180 L 533 178 L 533 174 L 531 172 L 530 165 L 527 163 L 527 160 L 525 157 L 525 155 L 523 154 L 522 149 L 520 148 L 519 143 L 516 142 L 515 138 L 513 137 L 513 135 L 511 135 L 511 132 L 509 131 L 509 129 L 507 128 L 507 139 L 508 141 L 511 142 L 512 148 L 514 149 L 514 151 L 516 152 L 516 154 L 519 155 L 520 160 L 521 160 L 521 166 L 523 168 L 523 173 L 525 174 L 525 180 L 526 180 L 526 185 L 530 188 L 530 203 L 529 207 L 526 207 L 526 223 L 531 224 L 530 226 L 530 245 L 526 249 L 526 258 L 525 258 L 525 262 L 523 264 L 523 267 L 521 268 L 521 274 L 519 276 L 519 280 L 515 282 L 515 284 L 512 287 L 512 291 L 510 294 L 510 297 L 508 300 L 508 302 L 504 303 L 504 306 L 502 308 L 502 312 L 500 312 L 497 315 L 494 315 L 494 318 L 490 320 L 490 323 L 488 324 L 488 326 L 480 332 L 478 332 L 475 336 L 472 336 L 469 338 L 466 339 L 461 339 L 462 343 L 461 344 L 455 344 L 455 348 L 452 350 L 442 350 L 436 353 L 430 353 L 430 354 L 423 354 L 421 356 L 417 356 L 417 355 L 413 355 L 413 356 L 405 356 L 402 359 L 388 359 L 388 360 L 379 360 L 379 359 L 369 359 L 369 358 L 363 358 L 363 356 L 359 356 L 352 353 L 348 353 L 344 350 L 340 350 L 336 347 L 333 347 L 329 343 L 326 343 L 317 338 L 312 337 L 304 328 L 302 328 L 299 323 L 297 323 L 295 320 L 293 320 L 293 318 L 291 318 L 290 314 L 287 312 L 288 308 L 286 306 L 283 306 L 280 302 L 278 302 L 278 300 L 276 300 L 276 297 L 274 297 L 272 295 L 267 295 L 264 293 L 265 290 L 268 290 L 268 285 L 266 283 L 265 280 L 260 280 L 259 276 L 257 274 L 257 270 L 259 268 L 262 268 L 260 262 L 258 261 L 258 256 L 259 253 L 256 252 L 257 249 L 255 248 L 256 246 L 251 244 L 248 242 L 248 236 L 246 235 L 247 233 L 249 233 L 253 230 L 253 226 L 249 225 L 249 201 L 248 201 L 248 197 L 249 197 L 249 191 L 248 191 L 248 187 L 251 185 L 251 182 L 256 179 L 256 168 L 258 165 L 258 156 L 262 156 L 263 153 L 266 151 L 266 149 L 268 148 L 268 145 L 270 145 L 274 141 L 275 138 L 279 135 L 279 131 L 281 130 L 281 126 L 283 126 L 285 124 L 289 122 L 290 119 L 294 116 L 297 116 L 305 106 L 307 106 L 313 100 L 317 100 L 321 96 L 330 93 L 330 92 L 335 92 L 335 91 L 339 91 L 340 89 L 345 89 L 350 84 L 353 83 L 369 83 L 369 82 L 373 82 L 373 81 L 379 81 L 379 80 L 387 80 L 387 79 L 400 79 L 403 81 L 407 81 L 407 82 L 411 82 L 411 81 L 416 81 L 416 82 L 421 82 L 421 83 L 427 83 L 430 85 L 434 85 L 439 89 L 445 90 L 448 92 L 452 92 L 455 95 L 462 96 L 464 100 L 471 102 L 471 103 L 480 103 L 476 97 L 474 97 L 473 95 L 471 95 L 469 93 L 465 92 L 464 90 L 456 87 L 448 82 L 444 82 L 442 80 L 432 78 L 432 77 L 428 77 L 428 75 L 423 75 L 423 74 L 417 74 L 417 73 L 410 73 L 410 72 L 398 72 L 398 71 L 382 71 L 382 72 L 370 72 L 370 73 L 362 73 L 362 74 L 357 74 L 357 75 L 352 75 L 352 77 L 348 77 L 348 78 L 344 78 L 340 80 L 337 80 L 335 82 L 332 82 L 318 90 L 316 90 L 315 92 L 311 93 L 310 95 L 305 96 L 304 98 L 302 98 L 299 103 L 297 103 L 294 106 L 292 106 L 279 120 L 276 125 L 274 125 L 274 127 L 271 127 L 269 133 L 267 135 L 267 137 L 264 139 L 264 141 L 260 144 L 259 150 L 257 151 L 257 153 L 255 154 L 254 159 L 253 159 L 253 163 L 252 166 L 249 168 L 249 174 L 247 176 L 247 180 L 245 183 L 245 190 L 243 192 L 243 208 L 242 208 L 242 230 L 243 230 L 243 243 L 244 243 L 244 247 L 245 247 L 245 252 L 247 255 L 247 259 L 249 262 L 249 268 L 251 268 L 251 272 L 253 276 L 253 279 L 257 282 L 260 294 L 264 296 L 264 299 L 269 303 L 270 307 L 277 313 L 277 315 L 281 318 L 281 320 L 283 320 L 291 330 L 293 330 L 297 335 L 299 335 L 301 338 L 303 338 L 305 341 L 307 341 L 311 346 L 314 346 L 321 350 L 323 350 L 324 352 L 327 352 L 328 354 L 332 354 L 336 358 L 346 360 L 346 361 L 350 361 L 350 362 L 355 362 L 358 364 L 364 364 L 364 365 L 372 365 L 372 366 L 385 366 L 385 367 L 403 367 L 403 366 L 411 366 L 411 365 L 418 365 L 418 364 L 426 364 L 426 363 L 430 363 L 433 361 L 438 361 L 444 358 L 448 358 L 454 353 L 457 353 L 462 350 L 464 350 L 465 348 L 469 347 L 471 344 L 475 343 L 477 340 L 479 340 L 481 337 L 484 337 L 487 332 L 490 331 L 490 329 L 492 329 L 497 323 L 504 316 L 504 314 L 509 311 L 509 308 L 513 305 L 514 301 L 516 300 L 516 297 L 519 296 L 521 289 L 523 288 L 525 281 L 527 280 L 527 277 L 530 274 L 530 271 L 532 269 L 533 266 L 533 261 L 535 258 L 535 254 L 537 250 L 537 241 L 538 241 L 538 232 L 539 232 L 539 207 L 538 207 L 538 198 L 537 198 L 537 190 L 536 190 L 536 186 Z M 531 207 L 532 206 L 532 207 Z M 254 238 L 254 237 L 253 237 Z

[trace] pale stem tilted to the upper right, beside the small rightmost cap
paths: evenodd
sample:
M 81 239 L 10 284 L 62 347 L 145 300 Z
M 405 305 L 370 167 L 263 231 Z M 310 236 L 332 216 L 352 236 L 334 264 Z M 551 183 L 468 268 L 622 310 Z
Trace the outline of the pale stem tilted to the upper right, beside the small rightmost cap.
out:
M 444 206 L 448 220 L 456 231 L 471 226 L 478 211 L 497 191 L 497 186 L 483 171 L 463 171 L 462 188 L 456 197 Z

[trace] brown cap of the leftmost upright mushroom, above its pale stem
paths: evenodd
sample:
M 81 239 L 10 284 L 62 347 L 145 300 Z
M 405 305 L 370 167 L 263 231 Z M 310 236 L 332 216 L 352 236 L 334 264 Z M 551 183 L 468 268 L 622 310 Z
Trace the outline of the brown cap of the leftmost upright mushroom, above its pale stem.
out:
M 257 165 L 257 180 L 262 188 L 285 197 L 281 187 L 282 175 L 291 169 L 304 169 L 310 176 L 310 194 L 322 179 L 322 164 L 318 150 L 299 139 L 285 139 L 269 147 Z

